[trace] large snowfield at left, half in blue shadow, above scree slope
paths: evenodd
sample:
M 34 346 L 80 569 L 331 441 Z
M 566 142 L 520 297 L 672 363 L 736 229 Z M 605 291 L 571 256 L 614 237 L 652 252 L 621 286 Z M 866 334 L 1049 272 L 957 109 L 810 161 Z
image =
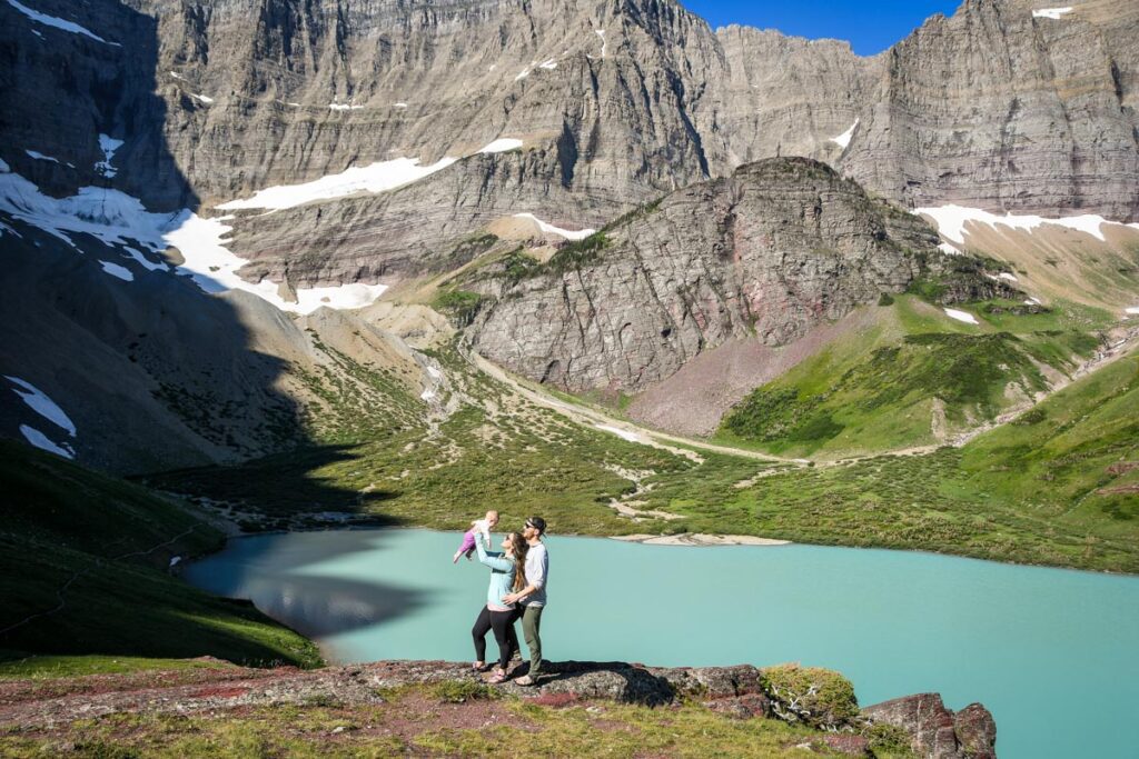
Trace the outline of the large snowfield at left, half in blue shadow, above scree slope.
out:
M 138 248 L 161 254 L 177 247 L 186 259 L 175 273 L 190 277 L 205 292 L 245 290 L 281 311 L 308 314 L 321 306 L 359 308 L 383 294 L 384 284 L 351 284 L 296 288 L 297 303 L 287 303 L 270 280 L 251 283 L 237 275 L 247 262 L 232 254 L 224 244 L 231 228 L 224 218 L 203 218 L 189 209 L 172 214 L 149 213 L 142 203 L 118 190 L 85 187 L 68 198 L 52 198 L 19 174 L 10 173 L 7 164 L 0 168 L 0 212 L 51 234 L 72 247 L 75 234 L 90 234 L 105 245 L 122 250 L 125 258 L 145 258 Z M 99 262 L 108 274 L 121 275 L 120 264 Z M 147 269 L 166 270 L 162 264 Z M 125 279 L 125 278 L 123 278 Z

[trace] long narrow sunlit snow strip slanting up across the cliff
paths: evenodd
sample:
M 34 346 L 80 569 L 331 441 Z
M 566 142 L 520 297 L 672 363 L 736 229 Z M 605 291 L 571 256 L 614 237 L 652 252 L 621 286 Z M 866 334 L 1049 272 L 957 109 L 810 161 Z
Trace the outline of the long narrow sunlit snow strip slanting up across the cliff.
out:
M 349 168 L 339 174 L 321 176 L 303 184 L 282 184 L 257 190 L 251 198 L 230 200 L 221 204 L 218 208 L 221 211 L 243 208 L 280 211 L 313 200 L 339 198 L 353 192 L 384 192 L 434 174 L 456 160 L 458 158 L 441 158 L 431 166 L 420 166 L 418 158 L 380 160 L 368 166 Z

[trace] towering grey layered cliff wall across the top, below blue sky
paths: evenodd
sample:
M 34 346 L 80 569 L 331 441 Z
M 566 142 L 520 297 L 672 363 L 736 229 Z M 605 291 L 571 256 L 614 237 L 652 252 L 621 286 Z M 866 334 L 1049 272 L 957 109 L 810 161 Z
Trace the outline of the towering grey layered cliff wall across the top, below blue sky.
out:
M 464 162 L 421 192 L 239 231 L 251 278 L 312 283 L 398 277 L 495 214 L 599 226 L 779 155 L 916 206 L 1137 218 L 1139 9 L 1096 0 L 1049 18 L 1035 5 L 969 0 L 874 58 L 713 33 L 673 0 L 36 5 L 101 41 L 6 5 L 0 157 L 41 187 L 109 183 L 170 208 L 523 141 L 524 158 Z M 124 141 L 114 178 L 93 168 L 100 133 Z

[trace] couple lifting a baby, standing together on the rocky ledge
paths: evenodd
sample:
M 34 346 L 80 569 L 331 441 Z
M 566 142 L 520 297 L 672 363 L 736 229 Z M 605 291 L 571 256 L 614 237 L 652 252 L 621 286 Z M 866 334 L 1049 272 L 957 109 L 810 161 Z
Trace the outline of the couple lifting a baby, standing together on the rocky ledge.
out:
M 499 646 L 498 667 L 491 674 L 491 683 L 501 683 L 509 677 L 510 659 L 518 647 L 518 636 L 514 624 L 522 619 L 522 632 L 530 651 L 530 671 L 515 680 L 518 685 L 533 685 L 542 670 L 542 610 L 546 608 L 546 585 L 550 574 L 550 558 L 542 537 L 546 520 L 531 517 L 522 531 L 508 533 L 502 541 L 501 552 L 491 552 L 490 530 L 498 523 L 498 512 L 486 512 L 485 519 L 472 525 L 464 535 L 462 545 L 454 554 L 454 561 L 473 553 L 478 561 L 491 569 L 491 583 L 486 588 L 486 605 L 478 612 L 470 635 L 475 641 L 475 663 L 478 671 L 486 671 L 486 633 L 494 633 Z

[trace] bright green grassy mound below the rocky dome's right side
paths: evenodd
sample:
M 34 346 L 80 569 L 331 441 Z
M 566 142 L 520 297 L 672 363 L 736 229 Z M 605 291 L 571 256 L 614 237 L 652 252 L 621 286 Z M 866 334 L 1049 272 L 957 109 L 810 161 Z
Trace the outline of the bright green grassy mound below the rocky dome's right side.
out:
M 720 440 L 770 453 L 835 459 L 936 444 L 1047 389 L 1099 340 L 1106 314 L 1023 304 L 958 306 L 978 324 L 901 296 L 878 327 L 826 347 L 756 388 L 726 414 Z

